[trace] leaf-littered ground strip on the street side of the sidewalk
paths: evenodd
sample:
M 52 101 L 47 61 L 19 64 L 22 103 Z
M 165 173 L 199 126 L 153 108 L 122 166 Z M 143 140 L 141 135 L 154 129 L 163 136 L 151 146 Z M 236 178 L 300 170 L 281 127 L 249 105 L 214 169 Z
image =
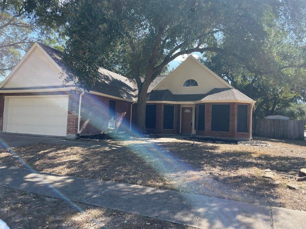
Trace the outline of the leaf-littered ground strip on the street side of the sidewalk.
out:
M 0 186 L 0 218 L 10 228 L 176 228 L 195 229 L 181 224 L 88 204 L 49 198 Z

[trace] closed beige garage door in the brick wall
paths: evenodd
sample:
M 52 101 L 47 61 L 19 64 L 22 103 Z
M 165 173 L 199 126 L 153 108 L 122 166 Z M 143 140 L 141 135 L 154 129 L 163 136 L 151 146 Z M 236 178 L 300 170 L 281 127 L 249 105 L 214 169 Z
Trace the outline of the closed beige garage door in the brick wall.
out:
M 5 112 L 4 132 L 66 136 L 68 96 L 6 97 Z

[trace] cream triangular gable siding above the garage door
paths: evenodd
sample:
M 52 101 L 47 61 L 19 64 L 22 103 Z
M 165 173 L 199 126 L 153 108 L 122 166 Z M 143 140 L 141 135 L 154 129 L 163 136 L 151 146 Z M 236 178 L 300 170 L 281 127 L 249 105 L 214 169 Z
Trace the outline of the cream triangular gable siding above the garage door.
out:
M 35 47 L 5 83 L 5 88 L 62 85 L 59 70 Z

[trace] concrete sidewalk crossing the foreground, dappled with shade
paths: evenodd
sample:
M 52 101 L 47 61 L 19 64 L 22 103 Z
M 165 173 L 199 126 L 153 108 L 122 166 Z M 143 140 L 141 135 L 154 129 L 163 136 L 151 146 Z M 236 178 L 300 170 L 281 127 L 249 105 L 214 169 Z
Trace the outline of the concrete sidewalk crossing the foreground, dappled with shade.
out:
M 0 185 L 200 228 L 302 229 L 306 225 L 302 211 L 1 164 Z

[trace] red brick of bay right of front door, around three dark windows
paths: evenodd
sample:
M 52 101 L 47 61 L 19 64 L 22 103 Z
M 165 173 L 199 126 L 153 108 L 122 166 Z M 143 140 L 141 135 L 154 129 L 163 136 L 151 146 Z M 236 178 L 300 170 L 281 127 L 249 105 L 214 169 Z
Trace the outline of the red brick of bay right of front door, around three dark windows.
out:
M 198 120 L 199 120 L 199 105 L 196 105 L 196 135 L 201 136 L 211 136 L 211 137 L 230 137 L 230 138 L 250 138 L 251 137 L 251 104 L 248 105 L 248 133 L 238 133 L 237 132 L 237 107 L 238 104 L 243 103 L 204 103 L 205 104 L 205 125 L 204 131 L 198 130 Z M 211 131 L 211 105 L 212 104 L 230 104 L 230 131 L 220 132 Z

